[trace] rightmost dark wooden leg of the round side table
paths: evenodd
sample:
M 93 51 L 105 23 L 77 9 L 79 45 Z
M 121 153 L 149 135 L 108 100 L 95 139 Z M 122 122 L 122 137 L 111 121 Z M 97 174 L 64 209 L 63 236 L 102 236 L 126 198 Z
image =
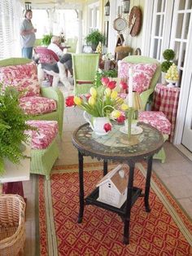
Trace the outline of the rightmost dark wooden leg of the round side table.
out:
M 145 201 L 146 212 L 148 213 L 151 211 L 150 204 L 149 204 L 149 195 L 150 195 L 152 162 L 153 162 L 153 156 L 147 159 L 147 170 L 146 170 L 146 188 L 145 188 L 144 201 Z

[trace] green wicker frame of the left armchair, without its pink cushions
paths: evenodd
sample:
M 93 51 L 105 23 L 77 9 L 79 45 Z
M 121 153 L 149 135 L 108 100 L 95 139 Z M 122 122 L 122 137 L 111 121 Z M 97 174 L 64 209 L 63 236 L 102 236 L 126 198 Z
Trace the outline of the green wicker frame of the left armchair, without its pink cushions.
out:
M 28 60 L 24 58 L 10 58 L 10 59 L 0 60 L 0 67 L 23 65 L 23 64 L 28 64 L 30 62 L 32 62 L 32 60 Z M 0 68 L 0 73 L 1 73 L 1 68 Z M 51 113 L 44 113 L 41 115 L 33 116 L 33 119 L 58 121 L 59 134 L 61 136 L 62 130 L 63 130 L 63 106 L 64 106 L 63 94 L 58 88 L 41 87 L 41 96 L 49 99 L 55 99 L 55 101 L 57 102 L 57 109 Z

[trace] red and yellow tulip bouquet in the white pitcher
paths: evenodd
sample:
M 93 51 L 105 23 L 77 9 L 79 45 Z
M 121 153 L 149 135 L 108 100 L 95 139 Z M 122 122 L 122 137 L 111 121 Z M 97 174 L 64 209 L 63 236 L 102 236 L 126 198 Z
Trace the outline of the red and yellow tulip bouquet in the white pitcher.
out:
M 116 81 L 102 78 L 102 86 L 91 87 L 88 95 L 68 96 L 66 105 L 77 106 L 93 117 L 110 117 L 118 122 L 124 122 L 124 111 L 129 107 L 115 90 Z

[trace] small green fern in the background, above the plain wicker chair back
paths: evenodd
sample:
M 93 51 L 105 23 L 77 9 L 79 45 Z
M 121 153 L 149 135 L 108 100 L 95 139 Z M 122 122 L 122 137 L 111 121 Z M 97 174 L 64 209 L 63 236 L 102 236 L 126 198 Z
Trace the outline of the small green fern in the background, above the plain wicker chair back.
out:
M 104 43 L 105 42 L 105 36 L 100 33 L 98 30 L 94 30 L 91 33 L 89 33 L 86 37 L 86 43 L 91 46 L 92 50 L 95 51 L 98 43 Z

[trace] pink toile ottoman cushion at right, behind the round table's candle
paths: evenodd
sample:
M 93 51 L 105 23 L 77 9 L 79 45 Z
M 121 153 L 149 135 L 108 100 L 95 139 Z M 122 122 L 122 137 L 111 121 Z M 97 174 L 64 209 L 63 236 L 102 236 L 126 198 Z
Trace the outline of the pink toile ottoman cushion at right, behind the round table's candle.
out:
M 171 133 L 171 123 L 163 112 L 142 111 L 138 115 L 138 120 L 155 127 L 164 135 L 170 135 Z

